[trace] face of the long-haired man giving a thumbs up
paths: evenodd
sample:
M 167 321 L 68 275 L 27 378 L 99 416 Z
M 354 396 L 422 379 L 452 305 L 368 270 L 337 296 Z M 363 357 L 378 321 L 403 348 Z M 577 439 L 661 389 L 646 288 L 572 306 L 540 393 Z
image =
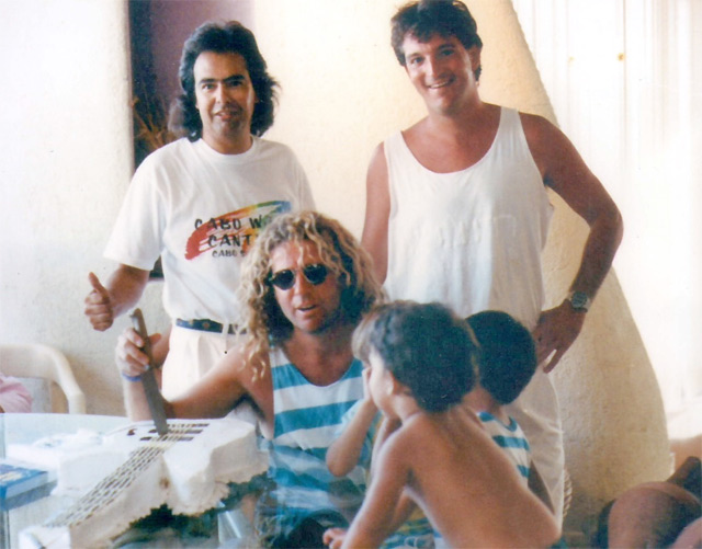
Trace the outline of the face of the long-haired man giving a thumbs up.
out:
M 193 73 L 202 138 L 223 155 L 248 150 L 256 92 L 244 57 L 203 52 L 195 60 Z

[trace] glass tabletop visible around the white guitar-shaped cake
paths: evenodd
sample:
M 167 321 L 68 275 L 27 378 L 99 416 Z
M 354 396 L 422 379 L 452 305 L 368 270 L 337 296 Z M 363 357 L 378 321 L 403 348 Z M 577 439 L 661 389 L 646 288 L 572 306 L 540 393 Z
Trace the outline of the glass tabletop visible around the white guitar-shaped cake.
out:
M 106 433 L 128 423 L 126 418 L 104 415 L 0 414 L 0 457 L 4 457 L 10 444 L 31 444 L 81 428 Z M 233 485 L 218 507 L 200 517 L 174 517 L 168 510 L 156 511 L 120 536 L 117 547 L 290 547 L 291 539 L 306 547 L 309 544 L 305 536 L 316 539 L 324 528 L 351 521 L 363 497 L 362 471 L 336 479 L 324 460 L 315 456 L 263 444 L 270 453 L 268 476 Z M 75 501 L 42 495 L 2 511 L 0 547 L 18 547 L 22 529 L 43 523 Z

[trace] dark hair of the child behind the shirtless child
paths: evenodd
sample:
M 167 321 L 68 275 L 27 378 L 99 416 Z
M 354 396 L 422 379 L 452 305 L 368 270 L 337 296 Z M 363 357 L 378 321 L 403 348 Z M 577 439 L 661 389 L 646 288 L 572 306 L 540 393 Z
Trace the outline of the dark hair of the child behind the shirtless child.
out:
M 466 322 L 480 344 L 480 385 L 500 404 L 509 404 L 536 371 L 531 333 L 502 311 L 476 312 Z

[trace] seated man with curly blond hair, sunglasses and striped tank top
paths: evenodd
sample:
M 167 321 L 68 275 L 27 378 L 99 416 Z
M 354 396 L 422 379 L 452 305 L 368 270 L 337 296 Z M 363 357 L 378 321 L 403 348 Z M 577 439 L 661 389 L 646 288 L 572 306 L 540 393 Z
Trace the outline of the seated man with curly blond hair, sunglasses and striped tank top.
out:
M 309 497 L 305 487 L 305 497 L 297 501 L 309 500 L 319 508 L 319 485 L 338 482 L 325 465 L 327 448 L 343 414 L 363 397 L 363 367 L 353 357 L 351 336 L 362 314 L 382 297 L 370 258 L 348 230 L 321 214 L 282 215 L 259 235 L 247 255 L 240 297 L 240 345 L 189 391 L 166 401 L 167 415 L 222 418 L 252 404 L 262 434 L 276 449 L 271 455 L 275 479 L 292 483 L 301 468 L 314 468 L 312 491 L 317 495 Z M 148 362 L 139 350 L 143 343 L 128 329 L 117 344 L 116 362 L 133 420 L 150 418 L 143 384 L 136 382 Z M 281 460 L 291 454 L 294 466 Z M 329 499 L 329 508 L 346 513 L 360 505 L 365 476 L 358 470 L 348 480 L 355 487 L 353 497 L 343 504 Z M 303 508 L 275 507 L 273 513 L 294 525 L 310 510 L 305 502 Z M 325 523 L 330 524 L 343 523 Z

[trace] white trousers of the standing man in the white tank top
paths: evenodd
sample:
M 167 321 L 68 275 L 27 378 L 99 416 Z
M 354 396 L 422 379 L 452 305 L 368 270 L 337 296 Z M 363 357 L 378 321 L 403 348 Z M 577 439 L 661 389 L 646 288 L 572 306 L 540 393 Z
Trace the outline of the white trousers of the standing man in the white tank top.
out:
M 556 521 L 563 523 L 565 453 L 558 398 L 551 377 L 541 366 L 519 398 L 506 408 L 524 431 L 539 470 L 554 506 Z

